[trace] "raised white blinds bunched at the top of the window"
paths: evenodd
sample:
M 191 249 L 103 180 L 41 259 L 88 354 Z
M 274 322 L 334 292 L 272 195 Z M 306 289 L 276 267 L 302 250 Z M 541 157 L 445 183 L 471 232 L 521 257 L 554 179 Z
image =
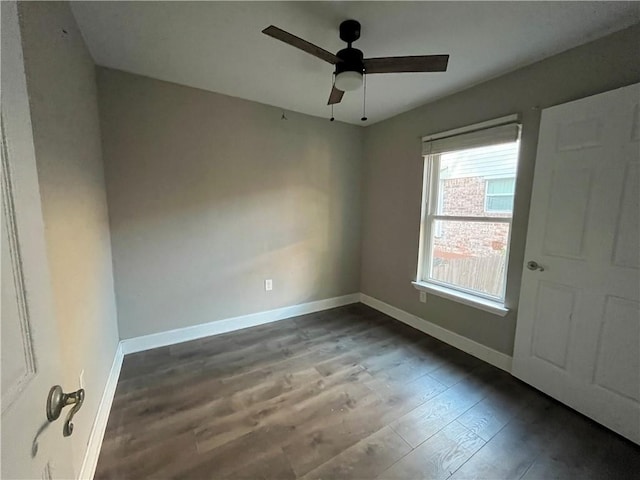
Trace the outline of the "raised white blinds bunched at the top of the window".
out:
M 472 125 L 463 130 L 452 130 L 424 137 L 422 155 L 515 142 L 520 136 L 520 124 L 516 122 L 516 118 L 515 116 L 505 117 L 494 122 Z

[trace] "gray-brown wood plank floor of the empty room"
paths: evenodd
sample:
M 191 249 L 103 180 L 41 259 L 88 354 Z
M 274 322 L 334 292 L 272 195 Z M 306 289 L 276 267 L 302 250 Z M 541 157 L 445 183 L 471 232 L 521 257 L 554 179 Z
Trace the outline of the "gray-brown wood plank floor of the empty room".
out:
M 127 355 L 95 478 L 621 479 L 638 471 L 638 446 L 355 304 Z

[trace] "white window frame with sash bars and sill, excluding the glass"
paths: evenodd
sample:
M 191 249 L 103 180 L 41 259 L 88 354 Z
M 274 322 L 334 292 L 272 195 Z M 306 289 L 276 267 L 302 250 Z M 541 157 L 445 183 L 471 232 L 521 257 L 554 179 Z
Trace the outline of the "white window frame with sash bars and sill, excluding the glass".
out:
M 482 124 L 471 125 L 462 129 L 456 129 L 451 132 L 444 132 L 442 136 L 453 136 L 463 134 L 466 131 L 475 131 L 481 128 L 491 128 L 499 124 L 504 124 L 505 121 L 511 123 L 517 122 L 517 115 L 509 117 L 503 117 L 490 122 L 483 122 Z M 520 139 L 520 125 L 518 124 L 518 137 L 516 141 Z M 424 140 L 424 139 L 423 139 Z M 441 297 L 449 298 L 460 303 L 471 305 L 481 310 L 488 311 L 500 316 L 504 316 L 509 312 L 509 309 L 505 305 L 506 290 L 507 290 L 507 278 L 509 273 L 509 256 L 511 252 L 511 235 L 513 231 L 513 208 L 511 212 L 486 212 L 485 216 L 460 216 L 460 215 L 439 215 L 438 199 L 441 195 L 441 180 L 440 180 L 440 153 L 425 154 L 423 153 L 424 173 L 422 184 L 422 215 L 420 222 L 420 238 L 418 245 L 418 264 L 416 272 L 416 281 L 412 282 L 414 287 L 421 291 L 426 291 Z M 518 147 L 518 163 L 520 160 L 520 145 Z M 496 177 L 497 178 L 497 177 Z M 516 174 L 514 177 L 514 204 L 516 196 L 516 186 L 518 179 L 518 168 L 516 166 Z M 486 200 L 485 200 L 486 201 Z M 492 216 L 492 213 L 511 213 L 510 216 Z M 436 221 L 458 221 L 458 222 L 477 222 L 477 223 L 507 223 L 509 226 L 509 232 L 507 235 L 507 245 L 505 248 L 505 269 L 504 269 L 504 281 L 502 285 L 502 291 L 499 296 L 489 295 L 475 290 L 471 290 L 458 285 L 452 285 L 449 283 L 441 282 L 431 278 L 431 271 L 433 266 L 433 233 L 436 230 Z

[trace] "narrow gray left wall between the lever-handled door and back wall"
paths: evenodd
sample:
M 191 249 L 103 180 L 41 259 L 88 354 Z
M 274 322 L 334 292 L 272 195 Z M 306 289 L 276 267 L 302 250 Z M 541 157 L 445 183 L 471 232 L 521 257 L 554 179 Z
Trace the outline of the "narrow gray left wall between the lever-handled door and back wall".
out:
M 118 344 L 95 68 L 66 2 L 19 7 L 65 391 L 85 370 L 77 473 Z

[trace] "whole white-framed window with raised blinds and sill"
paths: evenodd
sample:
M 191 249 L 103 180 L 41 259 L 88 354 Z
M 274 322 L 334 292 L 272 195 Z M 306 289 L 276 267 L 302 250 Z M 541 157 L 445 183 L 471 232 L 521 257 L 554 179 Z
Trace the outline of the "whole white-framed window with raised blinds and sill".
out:
M 423 139 L 416 288 L 506 314 L 519 134 L 507 117 Z

